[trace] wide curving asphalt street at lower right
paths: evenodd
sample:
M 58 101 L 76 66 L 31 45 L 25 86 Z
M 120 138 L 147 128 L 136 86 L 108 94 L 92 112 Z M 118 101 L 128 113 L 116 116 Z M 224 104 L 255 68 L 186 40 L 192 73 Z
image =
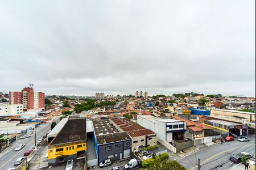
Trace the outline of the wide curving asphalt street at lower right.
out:
M 222 165 L 217 169 L 229 169 L 236 165 L 229 161 L 229 157 L 233 154 L 238 154 L 242 151 L 249 152 L 255 155 L 255 135 L 251 135 L 250 142 L 239 142 L 237 139 L 231 142 L 216 144 L 202 150 L 199 150 L 191 155 L 185 156 L 178 160 L 180 164 L 189 170 L 198 168 L 198 159 L 200 159 L 201 170 L 208 170 Z

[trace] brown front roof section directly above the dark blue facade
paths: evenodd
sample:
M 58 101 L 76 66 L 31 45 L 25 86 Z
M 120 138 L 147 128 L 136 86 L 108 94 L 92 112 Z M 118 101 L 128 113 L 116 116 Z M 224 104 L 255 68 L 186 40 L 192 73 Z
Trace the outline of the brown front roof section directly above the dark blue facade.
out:
M 119 132 L 119 133 L 106 134 L 106 135 L 99 135 L 96 138 L 97 138 L 98 145 L 102 145 L 105 143 L 126 141 L 131 139 L 131 137 L 127 134 L 126 131 Z

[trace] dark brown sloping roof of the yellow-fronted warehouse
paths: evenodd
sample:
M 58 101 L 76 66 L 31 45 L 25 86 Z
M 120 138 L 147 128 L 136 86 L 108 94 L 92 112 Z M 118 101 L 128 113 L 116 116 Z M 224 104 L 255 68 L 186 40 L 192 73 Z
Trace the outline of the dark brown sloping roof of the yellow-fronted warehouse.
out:
M 84 140 L 86 140 L 86 118 L 69 118 L 49 146 Z

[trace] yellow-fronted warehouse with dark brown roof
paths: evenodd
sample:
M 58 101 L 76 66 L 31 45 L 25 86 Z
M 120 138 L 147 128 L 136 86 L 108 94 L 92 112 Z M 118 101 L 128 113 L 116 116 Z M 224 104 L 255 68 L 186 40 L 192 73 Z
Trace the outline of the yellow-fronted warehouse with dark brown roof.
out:
M 76 160 L 86 155 L 86 119 L 68 118 L 48 145 L 48 165 Z M 49 139 L 49 138 L 48 138 Z

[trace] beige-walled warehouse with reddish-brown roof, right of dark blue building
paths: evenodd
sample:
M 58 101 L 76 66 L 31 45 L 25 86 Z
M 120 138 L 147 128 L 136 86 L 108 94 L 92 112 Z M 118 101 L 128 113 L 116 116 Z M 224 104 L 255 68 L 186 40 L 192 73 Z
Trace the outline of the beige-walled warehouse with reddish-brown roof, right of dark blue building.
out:
M 119 131 L 126 131 L 133 141 L 131 147 L 138 150 L 139 146 L 154 146 L 157 145 L 156 134 L 150 129 L 143 128 L 141 125 L 134 123 L 125 117 L 111 118 L 110 122 Z

